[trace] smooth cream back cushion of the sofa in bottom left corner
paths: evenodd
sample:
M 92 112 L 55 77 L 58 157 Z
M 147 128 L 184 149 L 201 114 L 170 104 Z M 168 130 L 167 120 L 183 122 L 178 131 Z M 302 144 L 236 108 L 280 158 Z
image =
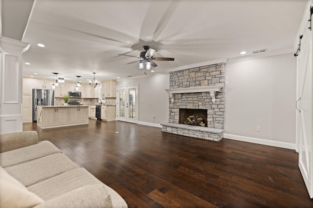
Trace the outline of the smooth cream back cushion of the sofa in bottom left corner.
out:
M 44 200 L 30 192 L 0 166 L 0 207 L 31 208 Z

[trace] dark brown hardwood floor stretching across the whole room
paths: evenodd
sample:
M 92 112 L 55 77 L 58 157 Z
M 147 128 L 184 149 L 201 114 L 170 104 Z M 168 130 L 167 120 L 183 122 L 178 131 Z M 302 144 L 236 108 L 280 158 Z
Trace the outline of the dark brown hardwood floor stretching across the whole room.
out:
M 26 123 L 23 130 L 36 130 L 130 208 L 313 208 L 294 150 L 215 143 L 125 122 L 55 129 Z

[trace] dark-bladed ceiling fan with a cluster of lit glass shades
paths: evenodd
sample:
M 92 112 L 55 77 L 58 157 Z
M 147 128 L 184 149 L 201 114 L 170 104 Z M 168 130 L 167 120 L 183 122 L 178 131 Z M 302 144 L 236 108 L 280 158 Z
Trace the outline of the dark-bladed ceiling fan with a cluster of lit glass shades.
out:
M 144 67 L 148 70 L 150 70 L 151 66 L 156 67 L 157 64 L 155 61 L 174 61 L 174 58 L 165 58 L 165 57 L 153 57 L 154 53 L 156 52 L 155 49 L 150 48 L 150 46 L 144 45 L 143 49 L 145 51 L 140 52 L 139 57 L 137 56 L 130 56 L 130 55 L 126 55 L 126 54 L 118 54 L 118 55 L 122 55 L 122 56 L 130 56 L 130 57 L 134 57 L 134 58 L 138 58 L 140 60 L 138 61 L 134 61 L 134 62 L 139 62 L 139 68 L 143 69 Z M 134 62 L 130 62 L 130 63 L 134 63 Z M 127 63 L 127 64 L 130 64 Z

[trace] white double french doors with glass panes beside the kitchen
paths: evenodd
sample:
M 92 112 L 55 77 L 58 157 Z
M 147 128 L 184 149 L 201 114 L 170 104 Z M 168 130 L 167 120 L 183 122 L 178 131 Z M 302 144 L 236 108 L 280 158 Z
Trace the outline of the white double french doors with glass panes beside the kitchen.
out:
M 116 119 L 138 124 L 138 84 L 117 87 L 116 97 Z

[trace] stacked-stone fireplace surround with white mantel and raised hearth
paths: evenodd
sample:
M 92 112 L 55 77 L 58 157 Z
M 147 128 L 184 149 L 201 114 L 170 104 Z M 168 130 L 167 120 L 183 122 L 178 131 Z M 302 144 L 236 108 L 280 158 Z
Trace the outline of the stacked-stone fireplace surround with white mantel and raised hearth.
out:
M 219 142 L 224 132 L 224 63 L 170 72 L 169 122 L 162 132 Z M 179 124 L 179 108 L 207 109 L 207 126 Z

